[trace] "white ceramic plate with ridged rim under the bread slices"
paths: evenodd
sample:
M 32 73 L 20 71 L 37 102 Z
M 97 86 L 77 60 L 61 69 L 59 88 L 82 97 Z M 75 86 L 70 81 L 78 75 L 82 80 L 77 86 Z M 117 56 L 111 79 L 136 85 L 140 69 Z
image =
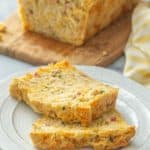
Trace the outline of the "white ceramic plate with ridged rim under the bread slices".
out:
M 136 126 L 136 136 L 124 150 L 150 150 L 150 92 L 137 83 L 99 67 L 78 66 L 89 76 L 120 88 L 117 109 Z M 32 69 L 33 70 L 33 69 Z M 9 95 L 12 78 L 0 83 L 0 150 L 34 150 L 29 133 L 32 123 L 40 116 L 27 105 Z

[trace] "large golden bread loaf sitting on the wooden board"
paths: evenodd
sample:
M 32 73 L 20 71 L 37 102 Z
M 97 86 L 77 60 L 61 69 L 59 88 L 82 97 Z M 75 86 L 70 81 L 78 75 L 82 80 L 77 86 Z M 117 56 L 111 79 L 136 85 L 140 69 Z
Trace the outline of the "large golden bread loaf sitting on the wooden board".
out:
M 73 45 L 130 11 L 139 0 L 19 0 L 25 30 Z

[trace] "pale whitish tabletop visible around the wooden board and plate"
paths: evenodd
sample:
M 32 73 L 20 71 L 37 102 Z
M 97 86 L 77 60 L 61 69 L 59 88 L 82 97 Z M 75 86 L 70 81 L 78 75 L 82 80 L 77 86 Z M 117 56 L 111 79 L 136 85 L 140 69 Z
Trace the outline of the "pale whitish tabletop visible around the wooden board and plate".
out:
M 17 9 L 17 0 L 0 0 L 0 2 L 0 21 L 3 21 Z M 122 73 L 124 62 L 124 57 L 121 57 L 108 68 Z M 32 67 L 32 65 L 0 54 L 0 80 L 4 79 L 12 73 L 21 70 L 27 70 L 30 67 Z

